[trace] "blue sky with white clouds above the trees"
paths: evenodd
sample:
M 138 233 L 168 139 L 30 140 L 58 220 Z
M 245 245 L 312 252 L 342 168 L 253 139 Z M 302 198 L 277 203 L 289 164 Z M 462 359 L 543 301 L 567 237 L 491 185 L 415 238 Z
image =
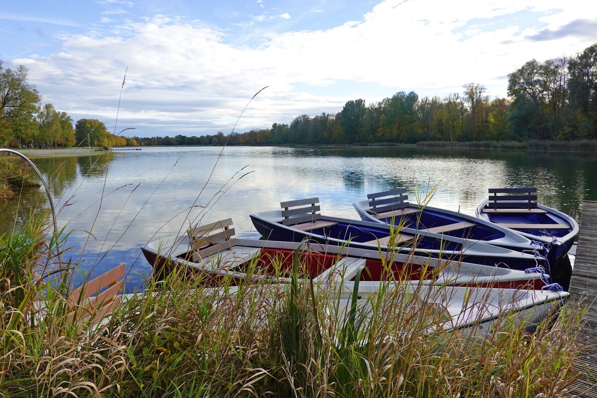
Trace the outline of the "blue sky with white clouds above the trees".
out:
M 586 0 L 0 3 L 0 60 L 27 67 L 42 104 L 139 137 L 270 128 L 471 82 L 506 97 L 527 61 L 597 42 Z

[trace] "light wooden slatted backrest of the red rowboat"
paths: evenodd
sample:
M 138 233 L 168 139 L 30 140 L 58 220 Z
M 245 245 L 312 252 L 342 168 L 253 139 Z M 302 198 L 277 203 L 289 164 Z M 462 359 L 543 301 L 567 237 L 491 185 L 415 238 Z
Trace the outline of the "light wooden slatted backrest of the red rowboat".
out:
M 235 245 L 235 230 L 232 218 L 219 220 L 215 223 L 198 225 L 190 228 L 188 233 L 193 253 L 193 261 L 199 261 L 219 251 L 229 249 Z

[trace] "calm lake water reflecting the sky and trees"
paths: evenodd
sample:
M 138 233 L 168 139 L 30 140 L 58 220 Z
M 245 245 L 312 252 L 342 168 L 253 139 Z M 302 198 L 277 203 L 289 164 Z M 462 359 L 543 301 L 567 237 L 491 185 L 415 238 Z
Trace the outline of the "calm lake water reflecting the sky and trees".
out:
M 92 274 L 124 262 L 130 290 L 151 271 L 140 251 L 149 240 L 227 217 L 237 236 L 257 238 L 248 215 L 277 209 L 282 200 L 317 196 L 322 214 L 356 218 L 352 203 L 368 193 L 406 187 L 414 201 L 415 189 L 424 197 L 436 186 L 431 205 L 474 215 L 490 187 L 536 186 L 541 203 L 577 220 L 583 200 L 597 200 L 593 153 L 227 147 L 219 157 L 220 151 L 150 147 L 34 159 L 51 187 L 59 226 L 72 231 L 65 258 L 81 258 L 81 269 Z M 1 233 L 48 204 L 34 189 L 0 206 Z

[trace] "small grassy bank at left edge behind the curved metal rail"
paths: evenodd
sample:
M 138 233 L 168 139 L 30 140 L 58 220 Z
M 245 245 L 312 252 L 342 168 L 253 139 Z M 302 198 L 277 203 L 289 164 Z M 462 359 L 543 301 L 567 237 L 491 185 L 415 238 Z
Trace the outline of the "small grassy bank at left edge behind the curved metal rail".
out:
M 0 154 L 0 203 L 13 198 L 21 189 L 38 186 L 29 165 L 15 156 Z

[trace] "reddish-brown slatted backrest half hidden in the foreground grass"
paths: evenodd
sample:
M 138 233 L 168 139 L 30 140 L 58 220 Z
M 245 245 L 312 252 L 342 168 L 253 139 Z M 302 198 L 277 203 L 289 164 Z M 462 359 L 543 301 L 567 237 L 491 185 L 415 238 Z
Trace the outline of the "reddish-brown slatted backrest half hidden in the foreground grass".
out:
M 124 274 L 125 264 L 122 263 L 70 292 L 67 320 L 76 317 L 86 319 L 93 325 L 103 319 L 121 302 L 122 296 L 119 293 L 124 285 Z M 103 289 L 105 290 L 102 291 Z

